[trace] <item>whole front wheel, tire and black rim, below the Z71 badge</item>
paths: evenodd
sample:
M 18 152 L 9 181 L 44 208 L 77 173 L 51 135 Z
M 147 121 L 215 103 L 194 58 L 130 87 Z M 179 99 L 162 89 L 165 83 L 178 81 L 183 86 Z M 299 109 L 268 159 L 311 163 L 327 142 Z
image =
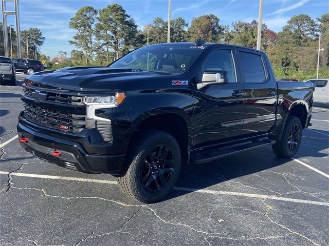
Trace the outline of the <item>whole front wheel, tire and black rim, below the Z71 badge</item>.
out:
M 127 196 L 152 203 L 161 200 L 174 187 L 180 169 L 180 150 L 167 132 L 148 130 L 133 140 L 127 156 L 130 166 L 119 177 L 120 190 Z

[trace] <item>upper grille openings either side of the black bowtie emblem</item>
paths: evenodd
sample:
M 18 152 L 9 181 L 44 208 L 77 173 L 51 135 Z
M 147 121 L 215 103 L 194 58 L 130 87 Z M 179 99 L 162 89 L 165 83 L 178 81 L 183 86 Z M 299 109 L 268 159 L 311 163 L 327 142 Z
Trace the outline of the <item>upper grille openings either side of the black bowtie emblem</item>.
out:
M 35 91 L 32 88 L 24 88 L 23 89 L 23 95 L 33 98 L 33 91 Z M 66 104 L 66 105 L 83 105 L 81 101 L 81 97 L 79 96 L 72 96 L 72 95 L 65 95 L 60 93 L 48 93 L 47 97 L 45 98 L 45 101 L 51 101 L 52 103 L 58 103 L 58 104 Z

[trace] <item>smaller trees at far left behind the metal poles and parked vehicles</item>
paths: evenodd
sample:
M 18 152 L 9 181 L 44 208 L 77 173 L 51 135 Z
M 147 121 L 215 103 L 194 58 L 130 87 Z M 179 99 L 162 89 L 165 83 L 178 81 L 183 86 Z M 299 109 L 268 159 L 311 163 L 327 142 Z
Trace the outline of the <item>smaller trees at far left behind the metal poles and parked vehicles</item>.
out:
M 0 55 L 5 55 L 5 42 L 3 33 L 3 23 L 0 22 Z M 11 38 L 10 38 L 11 32 Z M 9 45 L 9 56 L 11 56 L 10 47 L 12 47 L 12 57 L 16 58 L 18 56 L 17 52 L 17 33 L 12 26 L 7 27 L 8 33 L 8 45 Z M 31 59 L 40 59 L 40 47 L 45 41 L 45 37 L 38 28 L 30 28 L 28 30 L 21 31 L 21 46 L 22 46 L 22 57 L 31 58 Z M 11 45 L 12 42 L 12 45 Z M 20 57 L 19 57 L 20 58 Z

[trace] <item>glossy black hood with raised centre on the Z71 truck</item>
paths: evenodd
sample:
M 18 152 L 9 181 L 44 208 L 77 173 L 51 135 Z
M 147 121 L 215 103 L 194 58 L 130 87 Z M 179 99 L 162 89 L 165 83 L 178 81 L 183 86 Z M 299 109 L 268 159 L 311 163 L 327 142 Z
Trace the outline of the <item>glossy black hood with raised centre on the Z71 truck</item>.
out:
M 69 67 L 29 75 L 25 83 L 35 87 L 69 91 L 113 91 L 129 80 L 163 77 L 140 69 L 109 67 Z M 166 75 L 165 75 L 166 76 Z

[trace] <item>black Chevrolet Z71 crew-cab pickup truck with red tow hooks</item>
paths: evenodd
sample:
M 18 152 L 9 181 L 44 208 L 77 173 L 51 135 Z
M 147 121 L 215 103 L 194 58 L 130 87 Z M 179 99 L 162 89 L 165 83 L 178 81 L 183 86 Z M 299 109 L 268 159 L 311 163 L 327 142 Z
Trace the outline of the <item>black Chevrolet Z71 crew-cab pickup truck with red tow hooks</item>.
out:
M 141 47 L 107 67 L 34 73 L 22 100 L 26 151 L 115 175 L 123 193 L 150 203 L 170 192 L 181 164 L 265 146 L 294 156 L 313 84 L 276 81 L 261 51 L 198 40 Z

